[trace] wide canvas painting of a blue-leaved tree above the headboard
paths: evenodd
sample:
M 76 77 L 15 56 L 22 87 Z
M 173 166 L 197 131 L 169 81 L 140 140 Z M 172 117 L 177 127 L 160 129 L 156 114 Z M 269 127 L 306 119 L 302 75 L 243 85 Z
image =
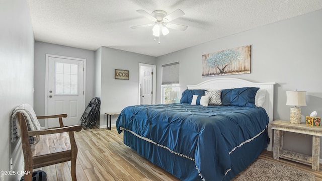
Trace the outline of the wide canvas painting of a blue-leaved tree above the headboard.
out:
M 202 55 L 202 76 L 251 72 L 251 45 Z

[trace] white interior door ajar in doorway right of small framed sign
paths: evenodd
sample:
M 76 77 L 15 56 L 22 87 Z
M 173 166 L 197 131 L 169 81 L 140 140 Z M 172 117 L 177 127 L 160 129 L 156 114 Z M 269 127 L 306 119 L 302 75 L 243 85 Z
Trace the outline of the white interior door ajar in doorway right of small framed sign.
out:
M 140 104 L 152 104 L 152 68 L 141 66 L 141 101 Z

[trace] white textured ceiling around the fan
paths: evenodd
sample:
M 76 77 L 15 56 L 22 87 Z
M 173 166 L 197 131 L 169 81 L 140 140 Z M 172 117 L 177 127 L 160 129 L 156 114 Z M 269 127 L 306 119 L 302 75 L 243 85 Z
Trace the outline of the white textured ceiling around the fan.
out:
M 36 41 L 97 50 L 101 46 L 160 56 L 322 9 L 321 0 L 27 0 Z M 181 9 L 185 15 L 154 41 L 148 13 Z

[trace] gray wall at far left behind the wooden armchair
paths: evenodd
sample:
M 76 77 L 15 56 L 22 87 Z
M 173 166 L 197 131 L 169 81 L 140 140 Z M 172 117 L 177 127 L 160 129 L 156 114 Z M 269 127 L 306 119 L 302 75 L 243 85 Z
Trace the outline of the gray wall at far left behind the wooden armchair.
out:
M 21 139 L 11 144 L 10 118 L 20 104 L 33 105 L 34 36 L 26 1 L 0 1 L 0 170 L 23 168 Z M 0 175 L 2 180 L 18 180 L 20 175 Z

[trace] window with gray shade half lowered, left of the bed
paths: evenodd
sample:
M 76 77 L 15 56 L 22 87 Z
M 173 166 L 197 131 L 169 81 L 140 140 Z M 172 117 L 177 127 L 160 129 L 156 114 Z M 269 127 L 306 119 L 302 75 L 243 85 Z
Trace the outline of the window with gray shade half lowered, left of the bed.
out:
M 162 65 L 162 103 L 179 103 L 179 62 Z

